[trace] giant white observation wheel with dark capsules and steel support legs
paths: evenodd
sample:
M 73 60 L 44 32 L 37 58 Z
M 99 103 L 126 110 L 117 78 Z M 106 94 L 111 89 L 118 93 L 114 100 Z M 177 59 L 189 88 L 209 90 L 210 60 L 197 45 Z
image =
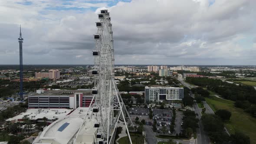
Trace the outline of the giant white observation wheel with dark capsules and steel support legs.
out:
M 95 50 L 92 52 L 95 64 L 92 70 L 92 75 L 94 75 L 94 88 L 92 89 L 93 98 L 89 106 L 89 111 L 92 111 L 90 117 L 95 115 L 97 120 L 94 124 L 94 127 L 97 129 L 97 134 L 94 139 L 96 144 L 112 144 L 115 139 L 115 130 L 121 115 L 125 122 L 130 143 L 132 144 L 128 124 L 124 115 L 125 113 L 128 115 L 128 111 L 115 85 L 115 59 L 111 17 L 109 16 L 108 10 L 101 10 L 100 12 L 101 13 L 98 14 L 99 21 L 96 22 L 98 31 L 94 35 Z M 129 115 L 128 118 L 131 121 Z M 83 124 L 86 124 L 86 120 L 87 119 L 84 118 Z M 82 126 L 80 129 L 82 129 Z

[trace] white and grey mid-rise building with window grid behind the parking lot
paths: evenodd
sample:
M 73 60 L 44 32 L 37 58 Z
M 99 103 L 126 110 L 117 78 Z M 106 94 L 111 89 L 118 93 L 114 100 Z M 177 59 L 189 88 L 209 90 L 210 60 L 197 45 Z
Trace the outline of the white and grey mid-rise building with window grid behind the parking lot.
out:
M 182 100 L 184 88 L 145 86 L 145 102 Z

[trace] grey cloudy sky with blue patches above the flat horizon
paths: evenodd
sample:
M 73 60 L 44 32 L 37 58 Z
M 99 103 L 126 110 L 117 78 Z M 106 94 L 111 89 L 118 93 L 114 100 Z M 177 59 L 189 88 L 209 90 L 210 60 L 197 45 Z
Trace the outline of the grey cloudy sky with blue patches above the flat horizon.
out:
M 0 64 L 93 64 L 100 9 L 115 64 L 256 65 L 256 0 L 0 0 Z

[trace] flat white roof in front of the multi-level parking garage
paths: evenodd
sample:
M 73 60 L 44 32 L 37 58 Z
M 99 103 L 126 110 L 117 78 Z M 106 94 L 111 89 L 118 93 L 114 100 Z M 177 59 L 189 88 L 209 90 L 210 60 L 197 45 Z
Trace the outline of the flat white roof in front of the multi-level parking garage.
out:
M 28 115 L 28 117 L 31 120 L 36 120 L 38 118 L 43 118 L 46 117 L 47 119 L 62 119 L 64 118 L 66 115 L 69 114 L 69 112 L 72 111 L 72 109 L 62 109 L 62 108 L 58 108 L 58 109 L 27 109 L 26 112 L 22 112 L 20 113 L 20 115 L 17 115 L 13 118 L 9 118 L 7 119 L 7 121 L 13 121 L 13 120 L 18 120 L 18 119 L 22 119 L 22 117 L 24 115 Z

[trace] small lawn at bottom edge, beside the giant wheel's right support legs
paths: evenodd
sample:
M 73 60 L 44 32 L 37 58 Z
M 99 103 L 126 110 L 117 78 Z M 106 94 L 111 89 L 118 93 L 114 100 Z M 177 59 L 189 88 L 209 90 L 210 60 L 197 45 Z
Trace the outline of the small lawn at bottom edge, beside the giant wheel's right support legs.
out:
M 135 133 L 130 133 L 131 136 L 131 141 L 133 144 L 143 144 L 143 136 L 142 134 L 135 134 Z M 121 137 L 118 140 L 119 144 L 130 144 L 128 136 L 126 137 Z

